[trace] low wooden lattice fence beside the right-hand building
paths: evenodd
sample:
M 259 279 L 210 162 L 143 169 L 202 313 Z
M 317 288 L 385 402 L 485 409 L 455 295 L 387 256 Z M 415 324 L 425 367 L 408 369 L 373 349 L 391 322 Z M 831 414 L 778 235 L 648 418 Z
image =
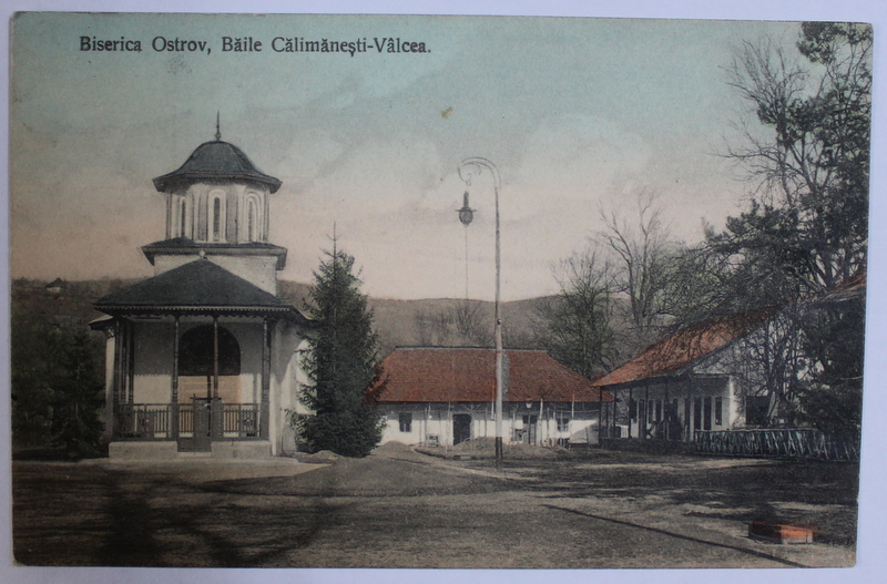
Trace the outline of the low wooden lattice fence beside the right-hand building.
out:
M 809 429 L 697 431 L 696 452 L 804 460 L 859 460 L 858 436 L 832 436 Z

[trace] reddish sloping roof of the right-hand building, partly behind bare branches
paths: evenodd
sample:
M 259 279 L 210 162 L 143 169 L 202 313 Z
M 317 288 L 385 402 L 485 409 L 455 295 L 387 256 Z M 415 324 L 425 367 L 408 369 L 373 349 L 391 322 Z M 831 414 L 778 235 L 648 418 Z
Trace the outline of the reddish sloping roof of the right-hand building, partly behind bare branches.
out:
M 634 359 L 598 379 L 597 383 L 608 387 L 673 373 L 733 339 L 744 337 L 771 314 L 771 310 L 755 310 L 687 327 L 651 345 Z

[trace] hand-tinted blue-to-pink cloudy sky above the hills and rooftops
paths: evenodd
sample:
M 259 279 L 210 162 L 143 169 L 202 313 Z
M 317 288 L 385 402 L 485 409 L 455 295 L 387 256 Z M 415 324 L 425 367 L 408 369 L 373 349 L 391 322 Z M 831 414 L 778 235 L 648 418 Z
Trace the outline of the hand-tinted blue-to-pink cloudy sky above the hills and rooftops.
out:
M 151 183 L 213 139 L 283 181 L 271 239 L 283 278 L 308 281 L 323 249 L 363 266 L 364 290 L 397 298 L 466 290 L 456 168 L 483 156 L 502 188 L 502 295 L 554 291 L 551 266 L 585 247 L 600 209 L 660 196 L 676 238 L 736 214 L 747 186 L 718 156 L 746 114 L 725 68 L 744 40 L 789 47 L 781 22 L 422 17 L 28 14 L 13 27 L 12 277 L 151 274 L 164 236 Z M 140 40 L 141 53 L 80 51 L 80 37 Z M 205 40 L 211 54 L 156 52 Z M 262 52 L 222 51 L 252 37 Z M 275 53 L 275 37 L 367 39 L 347 53 Z M 379 53 L 374 38 L 427 54 Z M 492 297 L 491 177 L 471 186 L 469 294 Z

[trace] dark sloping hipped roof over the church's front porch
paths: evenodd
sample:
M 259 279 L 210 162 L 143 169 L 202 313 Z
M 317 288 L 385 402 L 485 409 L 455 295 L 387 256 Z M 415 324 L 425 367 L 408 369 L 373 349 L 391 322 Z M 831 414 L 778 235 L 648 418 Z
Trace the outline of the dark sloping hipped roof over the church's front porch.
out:
M 106 314 L 279 313 L 307 322 L 294 306 L 206 258 L 190 262 L 109 294 L 94 306 Z

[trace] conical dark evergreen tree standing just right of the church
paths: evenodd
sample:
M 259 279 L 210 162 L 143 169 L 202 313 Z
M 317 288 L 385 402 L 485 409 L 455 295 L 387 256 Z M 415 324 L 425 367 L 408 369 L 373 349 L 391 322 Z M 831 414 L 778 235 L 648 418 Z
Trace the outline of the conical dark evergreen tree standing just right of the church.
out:
M 376 363 L 373 313 L 351 271 L 354 257 L 336 249 L 327 256 L 306 306 L 316 328 L 304 361 L 310 385 L 302 399 L 314 416 L 296 418 L 296 429 L 314 451 L 365 457 L 381 440 L 384 427 L 365 396 Z

